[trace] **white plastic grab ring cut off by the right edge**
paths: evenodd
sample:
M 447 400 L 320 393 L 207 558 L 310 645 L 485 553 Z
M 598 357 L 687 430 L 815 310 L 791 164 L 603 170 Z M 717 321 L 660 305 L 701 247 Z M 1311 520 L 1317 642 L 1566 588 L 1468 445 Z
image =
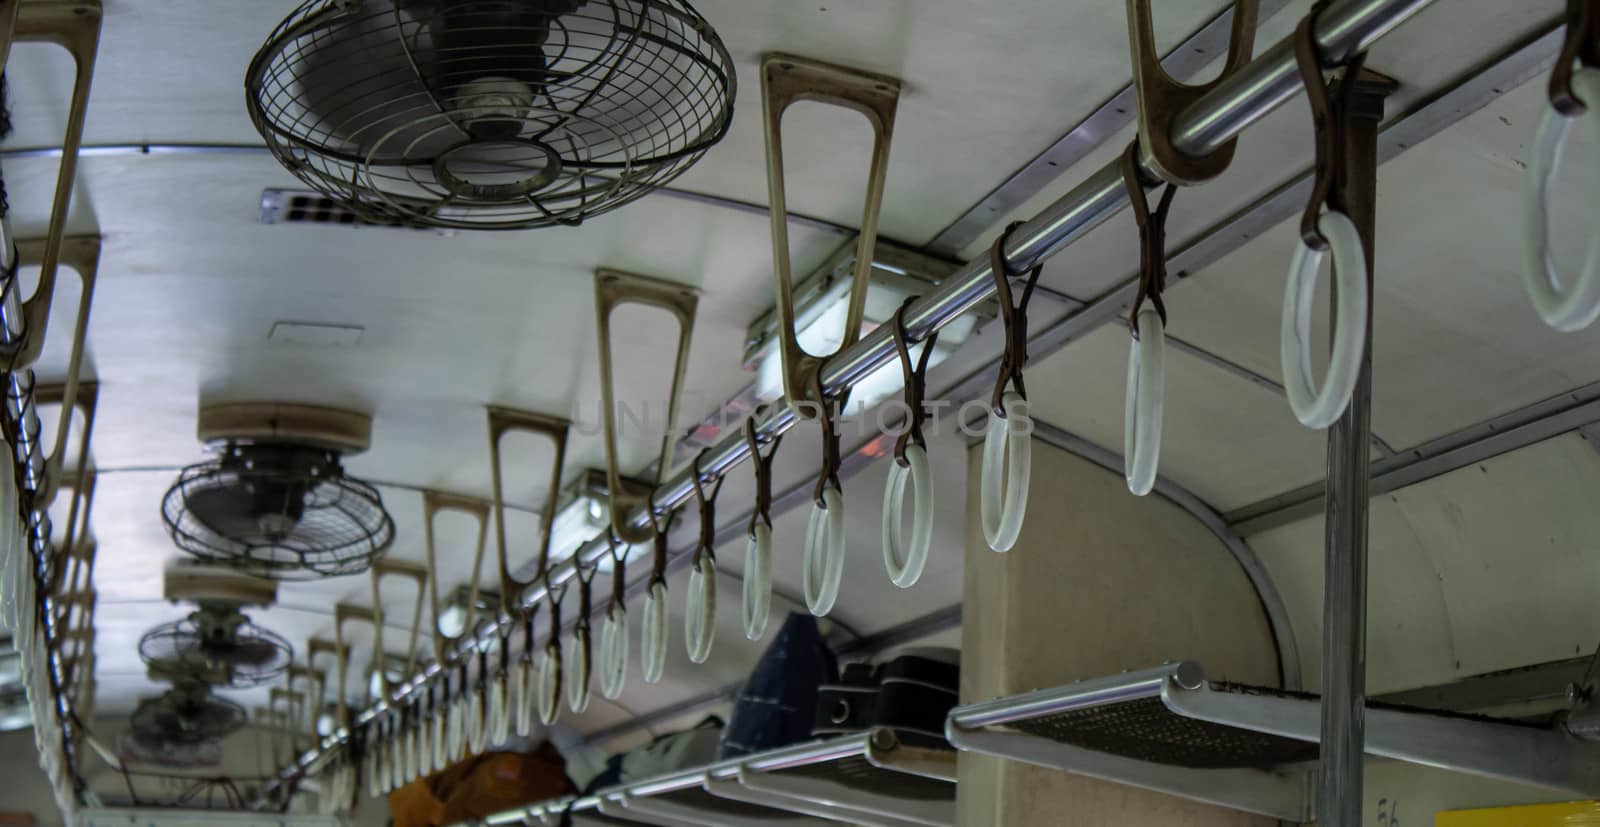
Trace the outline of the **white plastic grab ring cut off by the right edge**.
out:
M 1600 69 L 1573 72 L 1573 90 L 1586 104 L 1592 125 L 1600 131 Z M 1550 182 L 1562 165 L 1566 133 L 1578 117 L 1566 117 L 1546 107 L 1533 134 L 1528 178 L 1522 187 L 1523 267 L 1522 282 L 1533 309 L 1546 325 L 1558 331 L 1579 331 L 1600 317 L 1600 208 L 1590 219 L 1589 251 L 1571 285 L 1563 286 L 1550 253 L 1549 211 Z

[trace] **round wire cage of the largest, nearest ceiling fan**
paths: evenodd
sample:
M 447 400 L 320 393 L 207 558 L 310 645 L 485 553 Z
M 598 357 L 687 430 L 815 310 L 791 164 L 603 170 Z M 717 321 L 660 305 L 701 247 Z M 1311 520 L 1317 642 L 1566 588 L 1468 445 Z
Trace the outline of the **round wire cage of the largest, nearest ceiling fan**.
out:
M 685 0 L 309 0 L 251 61 L 272 154 L 368 221 L 578 224 L 667 184 L 733 120 Z

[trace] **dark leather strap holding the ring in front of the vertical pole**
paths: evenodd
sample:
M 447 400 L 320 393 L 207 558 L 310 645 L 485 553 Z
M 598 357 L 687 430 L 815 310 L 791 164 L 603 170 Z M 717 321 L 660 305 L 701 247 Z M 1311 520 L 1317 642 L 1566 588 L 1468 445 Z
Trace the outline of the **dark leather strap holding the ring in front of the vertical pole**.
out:
M 1366 64 L 1366 54 L 1355 54 L 1342 64 L 1330 64 L 1322 59 L 1317 46 L 1317 18 L 1328 8 L 1328 0 L 1318 0 L 1294 29 L 1294 62 L 1299 66 L 1301 80 L 1306 83 L 1306 101 L 1310 104 L 1312 125 L 1317 141 L 1317 163 L 1312 170 L 1312 192 L 1301 214 L 1301 240 L 1312 250 L 1328 250 L 1328 240 L 1322 237 L 1317 221 L 1323 208 L 1331 213 L 1346 213 L 1342 203 L 1342 182 L 1349 174 L 1346 158 L 1346 131 L 1349 130 L 1350 99 L 1355 85 Z M 1344 69 L 1342 75 L 1330 86 L 1323 80 L 1323 72 Z

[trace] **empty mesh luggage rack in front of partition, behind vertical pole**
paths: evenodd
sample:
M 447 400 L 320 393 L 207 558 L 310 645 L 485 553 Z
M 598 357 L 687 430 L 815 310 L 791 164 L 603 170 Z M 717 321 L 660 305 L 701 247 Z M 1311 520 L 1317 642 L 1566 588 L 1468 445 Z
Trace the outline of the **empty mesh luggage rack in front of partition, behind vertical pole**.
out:
M 1186 661 L 950 710 L 960 750 L 1310 821 L 1320 699 L 1205 680 Z M 1366 705 L 1366 753 L 1600 793 L 1600 745 L 1496 718 Z

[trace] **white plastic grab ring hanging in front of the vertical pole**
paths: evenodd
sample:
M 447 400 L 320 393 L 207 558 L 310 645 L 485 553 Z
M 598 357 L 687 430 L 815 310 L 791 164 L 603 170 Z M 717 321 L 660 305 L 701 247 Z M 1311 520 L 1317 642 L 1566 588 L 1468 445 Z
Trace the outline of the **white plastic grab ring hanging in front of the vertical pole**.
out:
M 1338 285 L 1333 352 L 1328 355 L 1328 374 L 1322 379 L 1322 387 L 1317 387 L 1310 373 L 1310 317 L 1317 302 L 1317 267 L 1326 253 L 1304 243 L 1294 248 L 1294 259 L 1290 262 L 1278 355 L 1283 362 L 1283 390 L 1294 417 L 1306 427 L 1323 429 L 1344 414 L 1362 373 L 1362 354 L 1366 349 L 1366 253 L 1362 250 L 1362 234 L 1344 213 L 1323 213 L 1317 219 L 1317 229 L 1333 253 Z

